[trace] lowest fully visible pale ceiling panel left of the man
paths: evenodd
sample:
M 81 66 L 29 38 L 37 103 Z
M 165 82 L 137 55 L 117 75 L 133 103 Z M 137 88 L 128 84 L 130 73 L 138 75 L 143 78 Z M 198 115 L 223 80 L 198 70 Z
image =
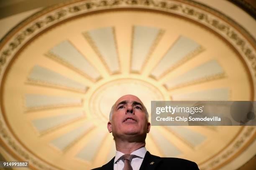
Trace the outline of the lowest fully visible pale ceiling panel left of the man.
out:
M 87 143 L 82 150 L 76 155 L 77 158 L 81 158 L 83 160 L 92 161 L 95 155 L 98 153 L 98 149 L 102 145 L 102 141 L 105 137 L 106 133 L 97 133 L 94 138 Z M 90 154 L 88 154 L 90 153 Z

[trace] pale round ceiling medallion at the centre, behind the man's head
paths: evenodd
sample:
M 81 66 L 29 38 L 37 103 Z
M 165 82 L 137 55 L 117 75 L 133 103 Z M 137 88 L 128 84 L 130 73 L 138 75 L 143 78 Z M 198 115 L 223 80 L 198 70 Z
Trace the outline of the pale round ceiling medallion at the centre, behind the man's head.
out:
M 144 101 L 148 112 L 151 112 L 151 101 L 165 100 L 163 93 L 144 80 L 119 79 L 113 80 L 97 88 L 89 101 L 90 114 L 95 120 L 108 122 L 111 106 L 122 95 L 132 94 Z

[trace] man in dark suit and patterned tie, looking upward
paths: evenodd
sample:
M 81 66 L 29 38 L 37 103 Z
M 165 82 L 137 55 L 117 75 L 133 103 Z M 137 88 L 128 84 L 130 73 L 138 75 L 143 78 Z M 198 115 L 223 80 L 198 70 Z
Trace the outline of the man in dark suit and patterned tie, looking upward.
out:
M 115 157 L 94 170 L 199 170 L 189 160 L 151 155 L 145 148 L 150 126 L 146 107 L 138 97 L 120 97 L 111 109 L 108 122 L 108 131 L 115 140 Z

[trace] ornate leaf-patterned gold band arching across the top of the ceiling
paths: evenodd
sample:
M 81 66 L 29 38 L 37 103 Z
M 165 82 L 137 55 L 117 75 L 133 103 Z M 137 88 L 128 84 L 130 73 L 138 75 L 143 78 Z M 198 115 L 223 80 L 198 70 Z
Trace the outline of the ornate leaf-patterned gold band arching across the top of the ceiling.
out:
M 196 10 L 195 8 L 193 8 L 192 6 L 187 6 L 184 7 L 183 5 L 185 3 L 187 3 L 188 5 L 197 5 L 197 7 L 201 7 L 204 10 L 209 10 L 210 8 L 204 6 L 202 7 L 201 5 L 196 4 L 196 2 L 188 2 L 188 1 L 181 1 L 184 2 L 184 4 L 181 3 L 173 3 L 175 1 L 171 1 L 171 0 L 114 0 L 114 1 L 106 1 L 106 0 L 98 0 L 98 1 L 86 1 L 84 3 L 78 2 L 78 5 L 74 5 L 73 7 L 66 7 L 67 9 L 61 9 L 60 11 L 57 11 L 56 13 L 54 13 L 53 15 L 49 15 L 47 16 L 44 20 L 38 21 L 36 23 L 34 23 L 33 25 L 31 25 L 30 27 L 28 27 L 26 30 L 24 30 L 21 34 L 19 34 L 17 37 L 15 37 L 15 40 L 13 40 L 12 42 L 10 42 L 9 46 L 1 52 L 0 55 L 0 73 L 2 70 L 2 66 L 5 64 L 7 57 L 10 55 L 10 53 L 12 53 L 16 47 L 18 47 L 23 40 L 26 38 L 27 35 L 31 35 L 34 32 L 38 31 L 38 29 L 40 30 L 42 27 L 44 27 L 44 24 L 49 24 L 49 23 L 56 23 L 56 21 L 61 21 L 63 19 L 65 19 L 65 15 L 67 15 L 67 13 L 69 13 L 69 15 L 74 15 L 74 13 L 81 13 L 81 11 L 83 10 L 88 10 L 86 12 L 89 12 L 91 9 L 98 8 L 97 10 L 101 10 L 102 8 L 108 8 L 108 7 L 121 7 L 121 8 L 127 8 L 127 7 L 148 7 L 154 10 L 164 10 L 169 13 L 172 12 L 176 12 L 176 14 L 178 13 L 182 13 L 183 15 L 187 15 L 187 18 L 190 18 L 192 20 L 197 20 L 197 22 L 204 22 L 202 24 L 207 25 L 210 28 L 214 28 L 215 31 L 218 31 L 219 33 L 225 33 L 225 37 L 227 39 L 229 39 L 230 41 L 234 41 L 235 45 L 240 49 L 240 52 L 243 53 L 244 57 L 246 57 L 249 62 L 251 62 L 251 68 L 253 69 L 253 72 L 256 74 L 256 67 L 254 68 L 254 66 L 256 65 L 256 55 L 255 55 L 255 40 L 248 34 L 248 32 L 246 32 L 247 37 L 250 37 L 249 40 L 248 38 L 246 38 L 246 40 L 251 41 L 251 43 L 253 45 L 248 45 L 248 43 L 246 43 L 245 40 L 243 40 L 243 37 L 239 36 L 238 32 L 239 30 L 243 30 L 243 28 L 239 28 L 238 32 L 237 30 L 233 29 L 231 27 L 229 27 L 228 25 L 223 24 L 223 22 L 221 22 L 220 20 L 215 19 L 215 16 L 211 16 L 210 15 L 206 15 L 205 13 Z M 126 5 L 126 6 L 125 6 Z M 169 11 L 168 11 L 169 10 Z M 210 9 L 210 12 L 213 13 L 214 15 L 217 15 L 218 17 L 222 17 L 222 19 L 224 18 L 225 20 L 228 20 L 233 26 L 235 25 L 236 27 L 238 27 L 238 24 L 236 24 L 234 21 L 230 20 L 229 18 L 227 18 L 226 16 L 220 15 L 217 11 Z M 179 15 L 179 14 L 178 14 Z M 66 16 L 67 18 L 67 16 Z M 230 24 L 229 23 L 229 24 Z M 245 30 L 243 30 L 243 33 L 245 32 Z M 1 47 L 1 45 L 0 45 Z M 252 49 L 254 48 L 254 49 Z M 255 75 L 254 74 L 254 75 Z

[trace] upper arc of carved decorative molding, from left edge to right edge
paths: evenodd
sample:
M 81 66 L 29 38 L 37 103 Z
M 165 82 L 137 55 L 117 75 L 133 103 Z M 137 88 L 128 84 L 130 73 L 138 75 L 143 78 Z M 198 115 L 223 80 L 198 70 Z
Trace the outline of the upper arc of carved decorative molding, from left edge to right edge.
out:
M 182 3 L 185 2 L 185 3 Z M 192 6 L 195 5 L 195 6 Z M 196 6 L 199 6 L 196 8 Z M 256 54 L 255 54 L 255 40 L 250 37 L 248 32 L 243 30 L 243 33 L 246 33 L 252 41 L 252 45 L 244 38 L 239 31 L 233 28 L 229 23 L 226 23 L 225 20 L 228 20 L 230 23 L 238 26 L 233 20 L 220 15 L 215 10 L 210 8 L 204 10 L 210 10 L 210 13 L 202 11 L 202 6 L 198 5 L 196 2 L 188 2 L 187 0 L 177 2 L 172 0 L 87 0 L 85 2 L 77 2 L 72 5 L 67 5 L 62 7 L 61 10 L 56 10 L 49 15 L 46 15 L 45 18 L 41 17 L 36 23 L 30 24 L 28 27 L 23 29 L 21 32 L 15 35 L 15 38 L 11 40 L 7 47 L 4 50 L 1 49 L 0 52 L 0 73 L 2 72 L 3 65 L 5 64 L 8 57 L 13 55 L 13 52 L 20 47 L 22 43 L 28 40 L 29 36 L 38 33 L 40 30 L 47 28 L 47 26 L 53 25 L 56 22 L 60 22 L 64 19 L 71 18 L 76 14 L 88 13 L 95 10 L 105 10 L 113 8 L 146 8 L 152 10 L 160 10 L 167 13 L 174 13 L 176 15 L 181 15 L 189 19 L 195 20 L 212 30 L 215 30 L 220 35 L 225 37 L 230 41 L 242 56 L 246 57 L 246 60 L 250 62 L 251 69 L 253 70 L 253 77 L 256 76 Z M 211 13 L 214 13 L 212 15 Z M 37 14 L 39 15 L 39 13 Z M 215 16 L 216 15 L 216 16 Z M 225 20 L 220 20 L 217 18 L 222 16 Z M 2 44 L 0 44 L 0 47 Z

